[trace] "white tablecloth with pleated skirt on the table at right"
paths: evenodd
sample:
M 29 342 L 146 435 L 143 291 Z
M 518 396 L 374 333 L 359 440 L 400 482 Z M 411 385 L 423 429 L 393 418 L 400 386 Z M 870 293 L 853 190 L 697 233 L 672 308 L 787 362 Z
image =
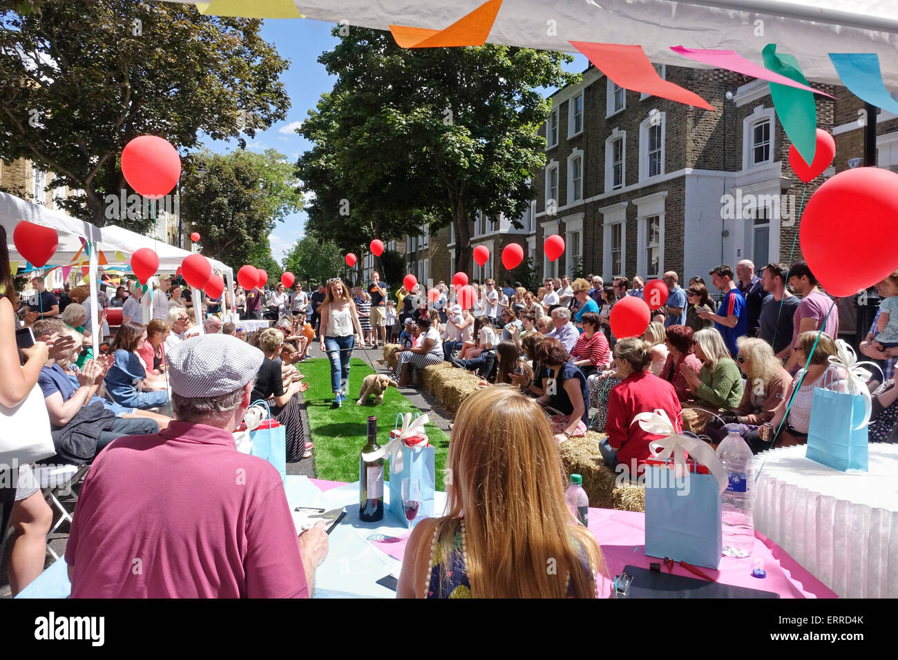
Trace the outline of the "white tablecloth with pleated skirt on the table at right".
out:
M 870 444 L 866 472 L 805 452 L 758 454 L 755 529 L 841 597 L 898 597 L 898 444 Z

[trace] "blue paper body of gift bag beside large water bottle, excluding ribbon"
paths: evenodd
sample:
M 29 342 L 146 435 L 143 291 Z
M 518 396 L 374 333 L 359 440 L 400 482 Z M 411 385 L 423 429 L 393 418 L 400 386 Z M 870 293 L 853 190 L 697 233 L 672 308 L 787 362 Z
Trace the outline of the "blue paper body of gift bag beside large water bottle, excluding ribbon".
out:
M 646 467 L 646 554 L 718 568 L 723 550 L 717 478 L 690 472 L 674 480 L 666 467 Z

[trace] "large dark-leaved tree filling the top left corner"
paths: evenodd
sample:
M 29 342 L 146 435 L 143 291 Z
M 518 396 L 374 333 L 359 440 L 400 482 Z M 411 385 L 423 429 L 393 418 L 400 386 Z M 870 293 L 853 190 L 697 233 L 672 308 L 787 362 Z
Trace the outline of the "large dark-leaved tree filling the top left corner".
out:
M 128 189 L 119 156 L 132 138 L 184 150 L 203 132 L 245 146 L 241 133 L 286 117 L 288 62 L 260 38 L 258 20 L 133 0 L 0 6 L 0 154 L 55 172 L 48 185 L 80 191 L 61 205 L 94 224 L 107 221 L 105 196 Z

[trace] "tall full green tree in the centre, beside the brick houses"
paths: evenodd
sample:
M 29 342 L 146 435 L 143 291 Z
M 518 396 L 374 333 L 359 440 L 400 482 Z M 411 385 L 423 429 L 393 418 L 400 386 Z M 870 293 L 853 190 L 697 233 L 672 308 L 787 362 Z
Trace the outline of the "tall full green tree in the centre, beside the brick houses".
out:
M 310 226 L 349 248 L 353 237 L 452 223 L 459 270 L 471 260 L 477 211 L 516 218 L 535 194 L 529 177 L 545 163 L 536 130 L 550 110 L 538 88 L 577 80 L 562 70 L 571 61 L 562 53 L 407 49 L 363 28 L 319 61 L 337 82 L 298 130 L 315 144 L 297 163 L 316 195 Z

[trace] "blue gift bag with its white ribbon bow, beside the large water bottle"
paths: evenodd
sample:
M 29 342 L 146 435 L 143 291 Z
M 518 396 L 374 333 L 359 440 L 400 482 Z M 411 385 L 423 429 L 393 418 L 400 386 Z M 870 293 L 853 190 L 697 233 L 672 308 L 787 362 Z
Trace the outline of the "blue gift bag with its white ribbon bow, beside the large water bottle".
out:
M 665 465 L 646 466 L 645 553 L 718 568 L 723 550 L 720 494 L 726 489 L 726 470 L 708 443 L 678 434 L 664 410 L 640 413 L 633 421 L 648 433 L 666 436 L 648 444 L 653 462 Z M 671 459 L 673 466 L 666 464 Z M 701 466 L 707 467 L 709 474 L 694 472 L 696 466 L 699 472 Z

